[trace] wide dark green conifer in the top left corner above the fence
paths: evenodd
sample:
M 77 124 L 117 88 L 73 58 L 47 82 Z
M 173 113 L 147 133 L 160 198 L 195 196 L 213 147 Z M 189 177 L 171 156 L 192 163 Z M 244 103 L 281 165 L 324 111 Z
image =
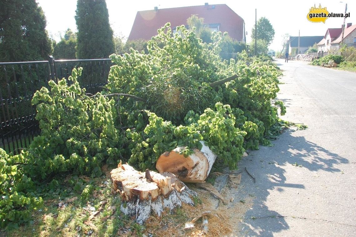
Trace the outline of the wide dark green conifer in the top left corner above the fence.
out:
M 46 18 L 35 0 L 1 1 L 0 61 L 44 60 L 52 53 Z

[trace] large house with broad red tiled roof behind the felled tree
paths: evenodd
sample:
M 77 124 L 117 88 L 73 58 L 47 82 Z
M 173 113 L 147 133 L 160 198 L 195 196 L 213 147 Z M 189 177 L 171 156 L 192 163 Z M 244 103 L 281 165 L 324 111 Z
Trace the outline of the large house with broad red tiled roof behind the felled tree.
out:
M 128 41 L 150 40 L 157 35 L 157 30 L 167 22 L 171 22 L 172 29 L 180 25 L 187 25 L 187 19 L 192 15 L 204 18 L 204 24 L 211 31 L 227 32 L 237 41 L 246 42 L 245 22 L 226 4 L 203 6 L 174 7 L 166 9 L 138 11 Z

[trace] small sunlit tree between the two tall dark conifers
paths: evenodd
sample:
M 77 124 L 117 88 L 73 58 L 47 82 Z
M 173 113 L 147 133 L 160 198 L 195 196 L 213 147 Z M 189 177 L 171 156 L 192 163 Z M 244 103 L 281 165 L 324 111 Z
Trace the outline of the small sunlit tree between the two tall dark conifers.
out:
M 77 37 L 69 28 L 64 37 L 61 38 L 53 50 L 53 56 L 56 59 L 75 59 L 75 48 L 77 45 Z

